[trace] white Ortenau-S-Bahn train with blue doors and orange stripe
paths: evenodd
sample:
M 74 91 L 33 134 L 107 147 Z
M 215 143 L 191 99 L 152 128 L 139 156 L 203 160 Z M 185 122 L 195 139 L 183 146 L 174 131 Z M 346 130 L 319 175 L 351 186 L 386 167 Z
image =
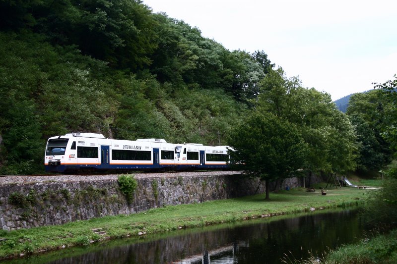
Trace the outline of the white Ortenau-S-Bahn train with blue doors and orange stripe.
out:
M 47 172 L 84 170 L 228 169 L 228 146 L 172 144 L 164 139 L 118 140 L 96 133 L 69 133 L 47 141 Z

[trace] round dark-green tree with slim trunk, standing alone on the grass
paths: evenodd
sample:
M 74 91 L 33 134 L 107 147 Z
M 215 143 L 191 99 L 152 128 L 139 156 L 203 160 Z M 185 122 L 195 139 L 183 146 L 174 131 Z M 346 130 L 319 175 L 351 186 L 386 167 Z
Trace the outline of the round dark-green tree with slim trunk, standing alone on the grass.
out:
M 305 166 L 306 144 L 295 125 L 272 113 L 254 112 L 231 132 L 232 166 L 269 182 L 291 177 Z

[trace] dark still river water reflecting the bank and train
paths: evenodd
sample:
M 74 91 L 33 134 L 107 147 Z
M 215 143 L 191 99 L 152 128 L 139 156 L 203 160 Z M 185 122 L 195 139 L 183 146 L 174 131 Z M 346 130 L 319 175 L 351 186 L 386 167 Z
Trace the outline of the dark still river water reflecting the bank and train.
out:
M 305 259 L 308 251 L 321 253 L 355 242 L 362 235 L 363 226 L 357 211 L 346 210 L 183 230 L 161 235 L 162 238 L 156 240 L 147 237 L 137 243 L 121 240 L 86 248 L 85 251 L 91 252 L 85 254 L 75 250 L 71 253 L 74 256 L 47 263 L 280 263 L 284 253 L 291 252 L 290 256 Z M 34 259 L 29 263 L 34 263 Z M 44 263 L 42 259 L 40 262 Z

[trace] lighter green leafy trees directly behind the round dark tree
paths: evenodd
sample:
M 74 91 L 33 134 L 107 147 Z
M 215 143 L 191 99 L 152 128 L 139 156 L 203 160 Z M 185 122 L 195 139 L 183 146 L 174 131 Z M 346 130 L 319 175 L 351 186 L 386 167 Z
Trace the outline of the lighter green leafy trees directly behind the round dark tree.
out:
M 303 88 L 298 78 L 288 79 L 281 68 L 269 69 L 261 86 L 259 111 L 295 124 L 307 144 L 304 168 L 340 173 L 354 168 L 355 131 L 330 95 Z

